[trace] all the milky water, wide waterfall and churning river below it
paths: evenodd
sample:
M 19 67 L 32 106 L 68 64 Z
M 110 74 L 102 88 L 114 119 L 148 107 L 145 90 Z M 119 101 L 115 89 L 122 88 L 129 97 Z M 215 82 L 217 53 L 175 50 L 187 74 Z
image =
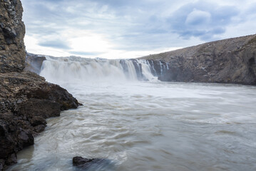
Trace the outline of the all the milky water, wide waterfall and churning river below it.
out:
M 48 58 L 41 76 L 83 106 L 49 118 L 8 171 L 78 171 L 75 156 L 108 159 L 87 171 L 255 171 L 256 87 L 155 81 L 168 66 L 152 66 Z

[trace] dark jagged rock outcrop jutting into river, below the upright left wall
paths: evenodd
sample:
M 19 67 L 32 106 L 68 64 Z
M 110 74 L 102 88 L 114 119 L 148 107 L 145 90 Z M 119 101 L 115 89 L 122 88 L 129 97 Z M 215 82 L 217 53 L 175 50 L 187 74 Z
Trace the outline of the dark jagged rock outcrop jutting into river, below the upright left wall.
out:
M 0 73 L 0 159 L 16 162 L 16 152 L 34 144 L 46 118 L 79 103 L 67 90 L 47 83 L 36 73 Z

